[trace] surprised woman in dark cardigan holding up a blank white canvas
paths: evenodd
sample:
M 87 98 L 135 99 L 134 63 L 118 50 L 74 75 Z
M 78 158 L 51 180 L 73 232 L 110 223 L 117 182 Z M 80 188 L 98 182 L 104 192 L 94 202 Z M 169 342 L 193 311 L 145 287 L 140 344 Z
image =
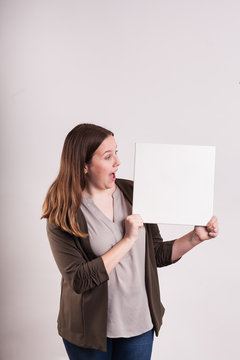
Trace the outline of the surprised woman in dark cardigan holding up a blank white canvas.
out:
M 42 207 L 62 274 L 58 333 L 71 360 L 150 359 L 165 311 L 157 267 L 218 234 L 213 216 L 163 241 L 157 224 L 132 214 L 133 181 L 116 178 L 116 148 L 111 131 L 74 127 Z

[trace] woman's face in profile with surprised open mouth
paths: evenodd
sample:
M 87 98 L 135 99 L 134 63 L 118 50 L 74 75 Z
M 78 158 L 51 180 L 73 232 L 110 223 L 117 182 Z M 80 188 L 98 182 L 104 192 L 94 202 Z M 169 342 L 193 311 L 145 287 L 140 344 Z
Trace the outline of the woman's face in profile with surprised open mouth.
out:
M 88 185 L 100 189 L 109 189 L 114 186 L 115 174 L 120 165 L 117 156 L 117 144 L 112 135 L 108 136 L 94 152 L 91 163 L 85 164 Z

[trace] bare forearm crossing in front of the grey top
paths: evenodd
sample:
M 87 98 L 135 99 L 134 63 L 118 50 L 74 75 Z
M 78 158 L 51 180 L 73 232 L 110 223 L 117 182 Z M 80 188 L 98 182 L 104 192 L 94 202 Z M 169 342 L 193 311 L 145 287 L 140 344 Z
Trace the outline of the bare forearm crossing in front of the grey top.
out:
M 110 250 L 108 250 L 105 254 L 102 255 L 102 259 L 108 275 L 119 263 L 119 261 L 124 257 L 124 255 L 126 255 L 126 253 L 132 248 L 134 242 L 135 241 L 124 237 Z

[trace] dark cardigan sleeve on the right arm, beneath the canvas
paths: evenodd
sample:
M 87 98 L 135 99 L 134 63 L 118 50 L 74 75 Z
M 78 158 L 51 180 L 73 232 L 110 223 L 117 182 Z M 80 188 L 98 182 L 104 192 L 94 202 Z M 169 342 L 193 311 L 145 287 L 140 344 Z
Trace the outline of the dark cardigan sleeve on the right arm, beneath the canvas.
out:
M 178 258 L 174 261 L 172 261 L 172 247 L 174 240 L 169 241 L 163 241 L 162 236 L 160 235 L 159 228 L 157 224 L 149 224 L 151 233 L 152 233 L 152 239 L 153 239 L 153 246 L 154 246 L 154 253 L 155 253 L 155 259 L 157 263 L 157 267 L 163 267 L 171 264 L 175 264 L 178 260 L 181 259 Z

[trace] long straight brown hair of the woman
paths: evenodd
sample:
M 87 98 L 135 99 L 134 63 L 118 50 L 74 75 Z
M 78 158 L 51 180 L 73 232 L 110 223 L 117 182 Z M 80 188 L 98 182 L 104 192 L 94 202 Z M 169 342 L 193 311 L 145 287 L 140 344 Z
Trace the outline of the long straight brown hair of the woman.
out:
M 60 226 L 78 237 L 86 237 L 77 220 L 77 211 L 82 202 L 82 190 L 86 186 L 85 163 L 91 162 L 99 145 L 113 132 L 95 124 L 79 124 L 66 136 L 60 170 L 50 186 L 42 205 L 42 218 Z

